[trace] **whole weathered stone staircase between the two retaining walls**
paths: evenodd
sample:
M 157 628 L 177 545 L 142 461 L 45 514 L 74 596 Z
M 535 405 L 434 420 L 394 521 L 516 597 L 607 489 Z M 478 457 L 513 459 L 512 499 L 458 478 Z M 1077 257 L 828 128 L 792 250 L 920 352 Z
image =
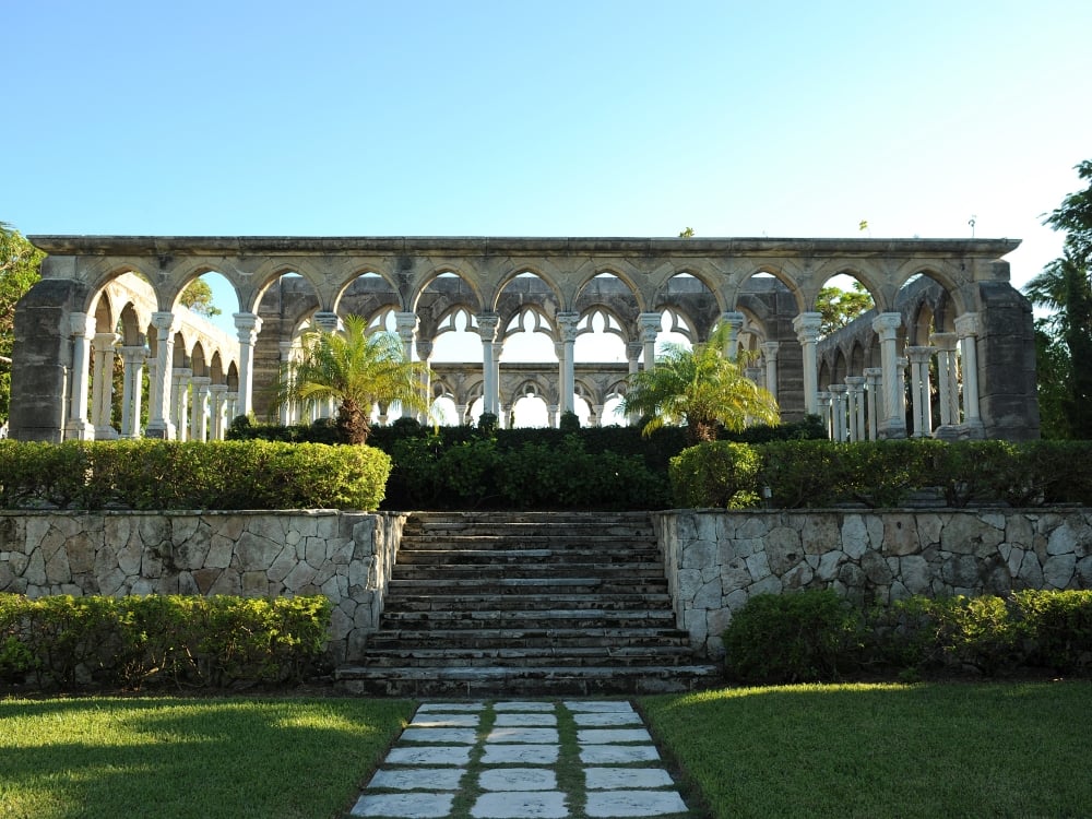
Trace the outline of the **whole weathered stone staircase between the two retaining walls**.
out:
M 425 512 L 406 522 L 354 693 L 684 691 L 720 681 L 675 627 L 644 513 Z

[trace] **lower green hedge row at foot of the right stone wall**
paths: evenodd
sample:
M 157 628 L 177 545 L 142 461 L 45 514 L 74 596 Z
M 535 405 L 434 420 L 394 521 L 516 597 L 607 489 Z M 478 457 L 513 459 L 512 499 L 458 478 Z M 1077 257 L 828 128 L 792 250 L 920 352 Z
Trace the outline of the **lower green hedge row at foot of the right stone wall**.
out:
M 738 682 L 831 681 L 862 673 L 996 676 L 1092 672 L 1092 591 L 915 596 L 862 607 L 831 590 L 760 594 L 724 631 Z

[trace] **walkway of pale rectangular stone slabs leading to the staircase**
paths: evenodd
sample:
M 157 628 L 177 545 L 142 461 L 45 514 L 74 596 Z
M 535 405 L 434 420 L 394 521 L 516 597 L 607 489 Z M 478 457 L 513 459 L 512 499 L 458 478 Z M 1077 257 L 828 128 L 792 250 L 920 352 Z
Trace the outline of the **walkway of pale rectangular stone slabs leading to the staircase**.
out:
M 687 807 L 619 701 L 425 703 L 352 816 L 677 817 Z

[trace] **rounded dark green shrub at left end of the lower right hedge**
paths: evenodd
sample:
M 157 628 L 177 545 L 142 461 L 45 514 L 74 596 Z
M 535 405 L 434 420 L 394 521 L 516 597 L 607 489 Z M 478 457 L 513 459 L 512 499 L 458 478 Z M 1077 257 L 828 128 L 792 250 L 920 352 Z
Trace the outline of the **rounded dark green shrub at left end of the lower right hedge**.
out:
M 725 670 L 746 684 L 840 679 L 860 641 L 860 613 L 831 590 L 758 594 L 724 631 Z

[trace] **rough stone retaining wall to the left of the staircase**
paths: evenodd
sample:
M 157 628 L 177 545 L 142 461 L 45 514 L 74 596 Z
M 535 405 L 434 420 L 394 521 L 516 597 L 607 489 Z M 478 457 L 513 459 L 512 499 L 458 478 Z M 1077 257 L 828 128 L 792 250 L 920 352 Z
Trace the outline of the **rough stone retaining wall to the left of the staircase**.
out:
M 0 592 L 324 594 L 330 654 L 377 627 L 405 515 L 339 512 L 0 512 Z

